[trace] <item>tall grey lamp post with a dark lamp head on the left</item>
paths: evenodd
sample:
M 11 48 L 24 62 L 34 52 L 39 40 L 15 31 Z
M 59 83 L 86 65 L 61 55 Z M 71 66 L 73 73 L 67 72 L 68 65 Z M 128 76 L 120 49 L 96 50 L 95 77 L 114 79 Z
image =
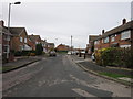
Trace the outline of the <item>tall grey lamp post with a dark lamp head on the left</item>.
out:
M 11 14 L 11 4 L 21 4 L 21 2 L 9 3 L 9 14 L 8 14 L 8 33 L 10 33 L 10 14 Z M 9 42 L 8 42 L 9 44 Z M 9 47 L 8 47 L 9 52 Z M 7 53 L 7 59 L 9 58 L 9 54 Z

